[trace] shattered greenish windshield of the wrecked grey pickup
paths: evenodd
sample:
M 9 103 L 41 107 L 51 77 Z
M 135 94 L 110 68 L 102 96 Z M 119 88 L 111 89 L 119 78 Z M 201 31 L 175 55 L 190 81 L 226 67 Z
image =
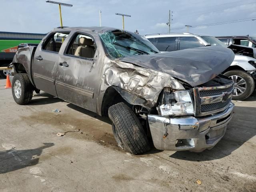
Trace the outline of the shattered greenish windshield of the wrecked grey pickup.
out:
M 100 34 L 107 54 L 112 58 L 159 53 L 159 50 L 146 38 L 121 30 Z

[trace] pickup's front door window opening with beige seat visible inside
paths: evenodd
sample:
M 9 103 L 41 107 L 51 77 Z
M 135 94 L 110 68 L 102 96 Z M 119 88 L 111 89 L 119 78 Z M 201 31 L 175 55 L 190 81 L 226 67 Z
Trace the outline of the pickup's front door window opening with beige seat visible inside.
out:
M 66 54 L 82 58 L 94 58 L 96 44 L 94 40 L 84 34 L 77 34 L 70 42 Z

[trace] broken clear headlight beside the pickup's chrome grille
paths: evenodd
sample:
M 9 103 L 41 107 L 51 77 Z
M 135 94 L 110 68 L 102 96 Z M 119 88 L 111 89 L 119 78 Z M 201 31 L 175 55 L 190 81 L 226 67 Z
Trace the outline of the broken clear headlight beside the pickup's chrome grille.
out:
M 162 116 L 194 114 L 193 101 L 189 91 L 164 92 L 164 97 L 164 104 L 159 106 Z

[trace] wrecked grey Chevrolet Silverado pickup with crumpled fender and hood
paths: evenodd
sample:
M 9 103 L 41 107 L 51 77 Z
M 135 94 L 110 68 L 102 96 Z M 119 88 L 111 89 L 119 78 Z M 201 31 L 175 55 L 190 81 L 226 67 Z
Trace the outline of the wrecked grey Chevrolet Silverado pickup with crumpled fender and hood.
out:
M 160 53 L 146 38 L 107 27 L 56 28 L 20 48 L 12 95 L 28 104 L 33 91 L 109 116 L 118 146 L 201 152 L 224 136 L 233 114 L 234 83 L 221 75 L 231 49 L 208 46 Z

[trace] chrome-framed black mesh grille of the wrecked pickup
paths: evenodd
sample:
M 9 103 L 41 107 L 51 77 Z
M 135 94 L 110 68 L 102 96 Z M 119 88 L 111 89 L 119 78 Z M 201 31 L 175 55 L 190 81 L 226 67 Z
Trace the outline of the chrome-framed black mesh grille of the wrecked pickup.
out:
M 225 86 L 193 88 L 195 116 L 214 114 L 228 108 L 233 89 L 234 83 Z

